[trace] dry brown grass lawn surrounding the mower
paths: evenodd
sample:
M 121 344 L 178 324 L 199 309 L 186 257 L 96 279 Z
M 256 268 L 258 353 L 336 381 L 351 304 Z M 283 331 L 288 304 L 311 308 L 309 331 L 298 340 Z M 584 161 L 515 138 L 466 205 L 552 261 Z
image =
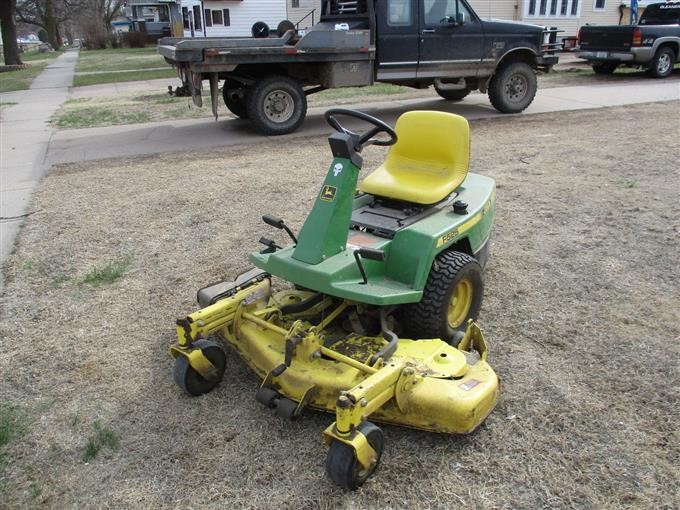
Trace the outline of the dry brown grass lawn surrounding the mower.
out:
M 25 424 L 0 507 L 680 508 L 679 114 L 471 123 L 471 170 L 498 187 L 480 324 L 500 402 L 465 437 L 385 426 L 355 493 L 324 474 L 332 416 L 282 421 L 230 350 L 220 386 L 187 397 L 168 354 L 196 289 L 271 234 L 263 213 L 300 228 L 324 138 L 54 168 L 0 302 L 1 400 Z M 117 260 L 122 278 L 83 283 Z M 98 430 L 119 444 L 85 462 Z

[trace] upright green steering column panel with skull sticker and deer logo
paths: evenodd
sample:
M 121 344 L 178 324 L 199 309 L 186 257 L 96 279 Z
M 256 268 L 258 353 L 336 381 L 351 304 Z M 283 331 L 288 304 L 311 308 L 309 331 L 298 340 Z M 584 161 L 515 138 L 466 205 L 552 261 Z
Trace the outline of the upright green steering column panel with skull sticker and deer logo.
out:
M 294 259 L 318 264 L 345 249 L 358 176 L 359 169 L 349 159 L 333 159 L 298 236 Z

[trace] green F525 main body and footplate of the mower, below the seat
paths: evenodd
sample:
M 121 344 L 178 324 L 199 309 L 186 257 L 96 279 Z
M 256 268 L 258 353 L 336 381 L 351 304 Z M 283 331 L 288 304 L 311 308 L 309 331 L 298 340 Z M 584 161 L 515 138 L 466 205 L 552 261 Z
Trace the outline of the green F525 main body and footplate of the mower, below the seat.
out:
M 326 181 L 331 176 L 335 177 L 333 168 L 336 162 L 343 163 L 345 169 L 356 169 L 346 159 L 334 160 Z M 343 170 L 342 173 L 344 172 Z M 352 189 L 354 186 L 356 181 Z M 441 207 L 427 218 L 399 230 L 393 239 L 349 230 L 351 209 L 364 205 L 370 200 L 370 196 L 357 197 L 353 205 L 350 204 L 349 212 L 344 203 L 339 204 L 342 217 L 345 218 L 346 215 L 343 225 L 339 224 L 337 213 L 332 214 L 323 209 L 321 212 L 317 211 L 320 201 L 317 198 L 317 203 L 300 233 L 297 248 L 288 247 L 266 254 L 253 253 L 250 259 L 257 267 L 275 276 L 331 296 L 372 305 L 416 303 L 422 298 L 432 261 L 438 253 L 467 238 L 474 254 L 484 246 L 491 234 L 495 212 L 493 179 L 469 173 L 456 191 L 459 193 L 457 200 L 468 204 L 466 214 L 455 214 L 450 205 Z M 337 193 L 340 193 L 340 187 Z M 315 218 L 315 214 L 319 218 Z M 332 228 L 339 232 L 330 234 L 320 230 L 323 224 L 331 224 L 329 218 L 333 221 Z M 342 248 L 333 255 L 327 255 L 338 243 L 341 243 L 338 248 Z M 318 245 L 318 249 L 315 249 L 315 245 Z M 301 256 L 298 257 L 300 246 L 304 246 L 304 251 L 300 251 Z M 331 249 L 325 251 L 329 247 Z M 385 252 L 384 261 L 363 259 L 368 275 L 366 285 L 362 283 L 361 273 L 354 259 L 354 251 L 359 247 Z M 323 258 L 324 255 L 327 256 Z M 321 260 L 310 263 L 301 258 Z

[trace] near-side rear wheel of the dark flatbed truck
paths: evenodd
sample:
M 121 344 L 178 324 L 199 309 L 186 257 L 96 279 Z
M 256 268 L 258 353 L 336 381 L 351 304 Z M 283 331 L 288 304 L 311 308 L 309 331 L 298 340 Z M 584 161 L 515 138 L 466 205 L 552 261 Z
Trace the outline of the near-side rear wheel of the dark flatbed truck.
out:
M 307 97 L 299 83 L 287 76 L 268 76 L 247 97 L 248 118 L 265 135 L 292 133 L 307 114 Z

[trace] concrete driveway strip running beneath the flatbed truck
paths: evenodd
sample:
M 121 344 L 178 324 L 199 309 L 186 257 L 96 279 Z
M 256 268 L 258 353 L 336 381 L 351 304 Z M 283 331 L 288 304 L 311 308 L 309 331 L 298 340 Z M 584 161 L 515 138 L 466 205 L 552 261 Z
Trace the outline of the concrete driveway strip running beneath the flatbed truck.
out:
M 676 79 L 651 83 L 645 81 L 561 87 L 539 90 L 531 106 L 518 115 L 677 100 L 680 100 L 680 81 Z M 447 111 L 469 120 L 508 118 L 507 115 L 498 113 L 484 94 L 471 94 L 459 103 L 439 98 L 418 98 L 342 106 L 365 111 L 388 123 L 394 123 L 400 114 L 409 110 Z M 673 103 L 669 107 L 674 108 L 680 115 L 680 103 Z M 295 139 L 328 133 L 330 128 L 323 118 L 327 109 L 328 106 L 310 108 L 307 119 L 297 132 L 276 139 Z M 348 121 L 348 125 L 351 127 L 353 124 Z M 360 126 L 357 124 L 357 127 Z M 55 133 L 50 142 L 48 163 L 69 163 L 244 143 L 259 144 L 271 139 L 257 133 L 250 122 L 232 117 L 222 118 L 218 122 L 212 119 L 196 119 L 74 129 Z

